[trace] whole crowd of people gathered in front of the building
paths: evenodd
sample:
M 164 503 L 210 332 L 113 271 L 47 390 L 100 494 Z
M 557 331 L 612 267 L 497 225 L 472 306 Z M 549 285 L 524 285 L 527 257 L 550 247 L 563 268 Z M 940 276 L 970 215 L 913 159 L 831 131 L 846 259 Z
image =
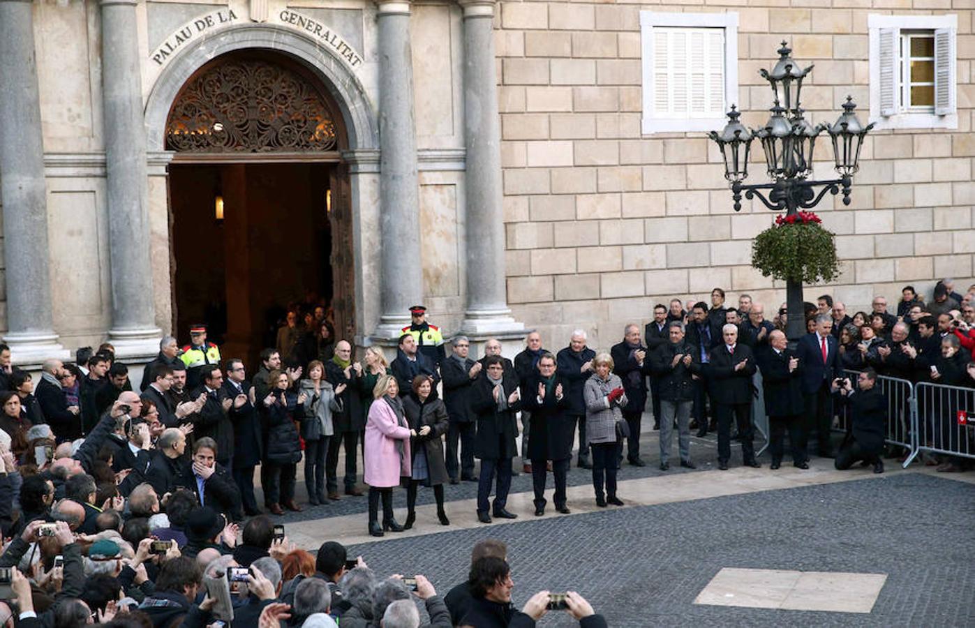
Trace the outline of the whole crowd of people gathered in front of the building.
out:
M 617 470 L 624 456 L 645 465 L 644 410 L 659 429 L 663 471 L 674 431 L 680 464 L 695 466 L 694 429 L 698 436 L 717 430 L 720 469 L 729 466 L 733 439 L 745 465 L 761 466 L 753 431 L 763 414 L 772 469 L 783 462 L 788 435 L 797 467 L 808 468 L 815 437 L 818 454 L 836 457 L 837 468 L 861 461 L 879 473 L 888 405 L 878 374 L 975 388 L 975 286 L 963 295 L 953 289 L 951 280 L 939 282 L 925 302 L 907 286 L 896 314 L 882 296 L 870 313 L 849 315 L 824 294 L 805 304 L 808 334 L 791 347 L 785 304 L 766 320 L 748 294 L 728 307 L 716 288 L 710 305 L 679 298 L 656 305 L 643 329 L 626 326 L 608 350 L 590 348 L 580 329 L 549 351 L 531 332 L 514 360 L 501 355 L 496 339 L 474 359 L 471 341 L 445 341 L 422 306 L 411 308 L 394 360 L 387 363 L 377 346 L 356 360 L 352 345 L 334 341 L 331 325 L 318 318 L 325 308 L 316 308 L 289 315 L 282 345 L 260 353 L 253 377 L 242 360 L 221 358 L 206 326 L 194 325 L 182 348 L 166 337 L 140 393 L 111 345 L 79 351 L 73 364 L 46 361 L 36 388 L 0 345 L 0 529 L 11 539 L 0 558 L 0 590 L 11 587 L 16 608 L 7 608 L 8 621 L 204 626 L 225 621 L 232 608 L 233 621 L 261 628 L 332 625 L 338 616 L 343 626 L 388 628 L 418 622 L 411 603 L 396 602 L 412 586 L 431 625 L 531 625 L 553 605 L 583 625 L 603 625 L 573 593 L 540 592 L 516 611 L 504 557 L 477 548 L 462 587 L 468 607 L 449 608 L 448 596 L 452 618 L 445 619 L 444 603 L 422 576 L 378 581 L 364 564 L 347 564 L 337 544 L 313 559 L 283 540 L 265 513 L 306 507 L 295 498 L 302 459 L 307 505 L 364 495 L 360 449 L 376 536 L 415 524 L 421 486 L 433 490 L 444 526 L 445 485 L 464 481 L 478 483 L 481 522 L 515 519 L 507 496 L 521 472 L 532 477 L 536 516 L 548 506 L 548 474 L 555 510 L 568 513 L 573 453 L 591 469 L 596 504 L 623 505 Z M 298 320 L 303 331 L 290 332 Z M 843 407 L 852 420 L 836 451 L 831 428 Z M 935 462 L 955 471 L 970 461 Z M 408 503 L 403 525 L 392 507 L 400 487 Z M 236 587 L 229 596 L 219 584 L 227 573 L 240 578 L 229 577 Z

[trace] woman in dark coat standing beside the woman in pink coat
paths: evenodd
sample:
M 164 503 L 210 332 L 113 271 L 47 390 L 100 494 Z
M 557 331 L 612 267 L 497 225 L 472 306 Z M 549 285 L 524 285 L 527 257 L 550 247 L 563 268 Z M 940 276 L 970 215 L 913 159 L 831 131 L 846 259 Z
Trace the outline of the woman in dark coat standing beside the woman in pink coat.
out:
M 403 399 L 403 410 L 407 414 L 409 429 L 416 432 L 410 439 L 412 452 L 409 484 L 407 485 L 407 530 L 416 521 L 416 488 L 422 483 L 433 487 L 437 499 L 437 518 L 442 526 L 449 526 L 450 520 L 444 512 L 444 483 L 448 481 L 447 463 L 444 461 L 444 434 L 447 434 L 449 419 L 444 402 L 431 394 L 433 382 L 429 377 L 413 377 L 412 390 Z

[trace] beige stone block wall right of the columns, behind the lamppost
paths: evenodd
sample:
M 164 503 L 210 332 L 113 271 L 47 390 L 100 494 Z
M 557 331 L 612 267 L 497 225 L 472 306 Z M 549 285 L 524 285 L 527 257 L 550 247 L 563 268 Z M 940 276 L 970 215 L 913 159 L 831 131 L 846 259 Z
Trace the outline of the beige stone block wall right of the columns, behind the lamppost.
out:
M 952 2 L 955 5 L 953 8 Z M 751 238 L 771 223 L 761 204 L 735 214 L 721 157 L 704 134 L 641 136 L 641 9 L 739 14 L 739 105 L 746 124 L 767 118 L 770 68 L 784 37 L 793 57 L 815 62 L 803 106 L 814 123 L 836 119 L 851 94 L 869 115 L 869 14 L 954 13 L 958 20 L 958 128 L 879 132 L 864 146 L 853 202 L 817 208 L 838 234 L 842 276 L 810 287 L 847 309 L 891 301 L 913 283 L 971 283 L 975 231 L 971 133 L 975 35 L 965 0 L 685 0 L 501 3 L 495 41 L 500 82 L 507 229 L 508 299 L 546 346 L 564 346 L 583 327 L 608 346 L 623 325 L 645 322 L 656 302 L 704 299 L 720 286 L 729 300 L 747 292 L 766 303 L 784 287 L 750 265 Z M 754 111 L 757 109 L 758 111 Z M 808 117 L 808 115 L 807 115 Z M 831 159 L 828 139 L 818 157 Z M 755 156 L 761 159 L 758 142 Z M 817 177 L 832 177 L 817 164 Z M 755 162 L 749 182 L 764 182 Z

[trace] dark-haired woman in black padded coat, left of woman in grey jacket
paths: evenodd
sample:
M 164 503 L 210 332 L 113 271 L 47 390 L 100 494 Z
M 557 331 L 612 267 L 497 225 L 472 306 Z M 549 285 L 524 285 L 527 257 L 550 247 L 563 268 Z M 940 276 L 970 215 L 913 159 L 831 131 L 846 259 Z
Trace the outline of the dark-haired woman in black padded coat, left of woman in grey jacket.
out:
M 263 424 L 267 429 L 264 446 L 264 465 L 267 486 L 264 501 L 275 515 L 282 515 L 282 504 L 289 510 L 301 512 L 294 503 L 294 476 L 301 459 L 298 430 L 294 427 L 292 412 L 304 404 L 304 393 L 295 396 L 288 392 L 288 374 L 274 370 L 268 377 L 271 392 L 258 400 Z

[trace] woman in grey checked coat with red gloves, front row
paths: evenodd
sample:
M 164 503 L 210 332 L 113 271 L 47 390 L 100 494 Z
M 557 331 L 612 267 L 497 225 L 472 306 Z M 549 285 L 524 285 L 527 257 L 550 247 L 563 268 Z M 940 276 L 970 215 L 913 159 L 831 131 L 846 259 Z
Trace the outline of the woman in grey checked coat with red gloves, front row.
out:
M 626 393 L 619 375 L 612 372 L 613 362 L 608 353 L 593 358 L 593 368 L 596 373 L 586 380 L 582 397 L 586 402 L 586 440 L 593 454 L 596 505 L 601 508 L 605 508 L 606 503 L 622 506 L 623 501 L 616 496 L 616 469 L 621 442 L 618 430 L 620 424 L 626 425 L 622 411 L 627 404 Z

